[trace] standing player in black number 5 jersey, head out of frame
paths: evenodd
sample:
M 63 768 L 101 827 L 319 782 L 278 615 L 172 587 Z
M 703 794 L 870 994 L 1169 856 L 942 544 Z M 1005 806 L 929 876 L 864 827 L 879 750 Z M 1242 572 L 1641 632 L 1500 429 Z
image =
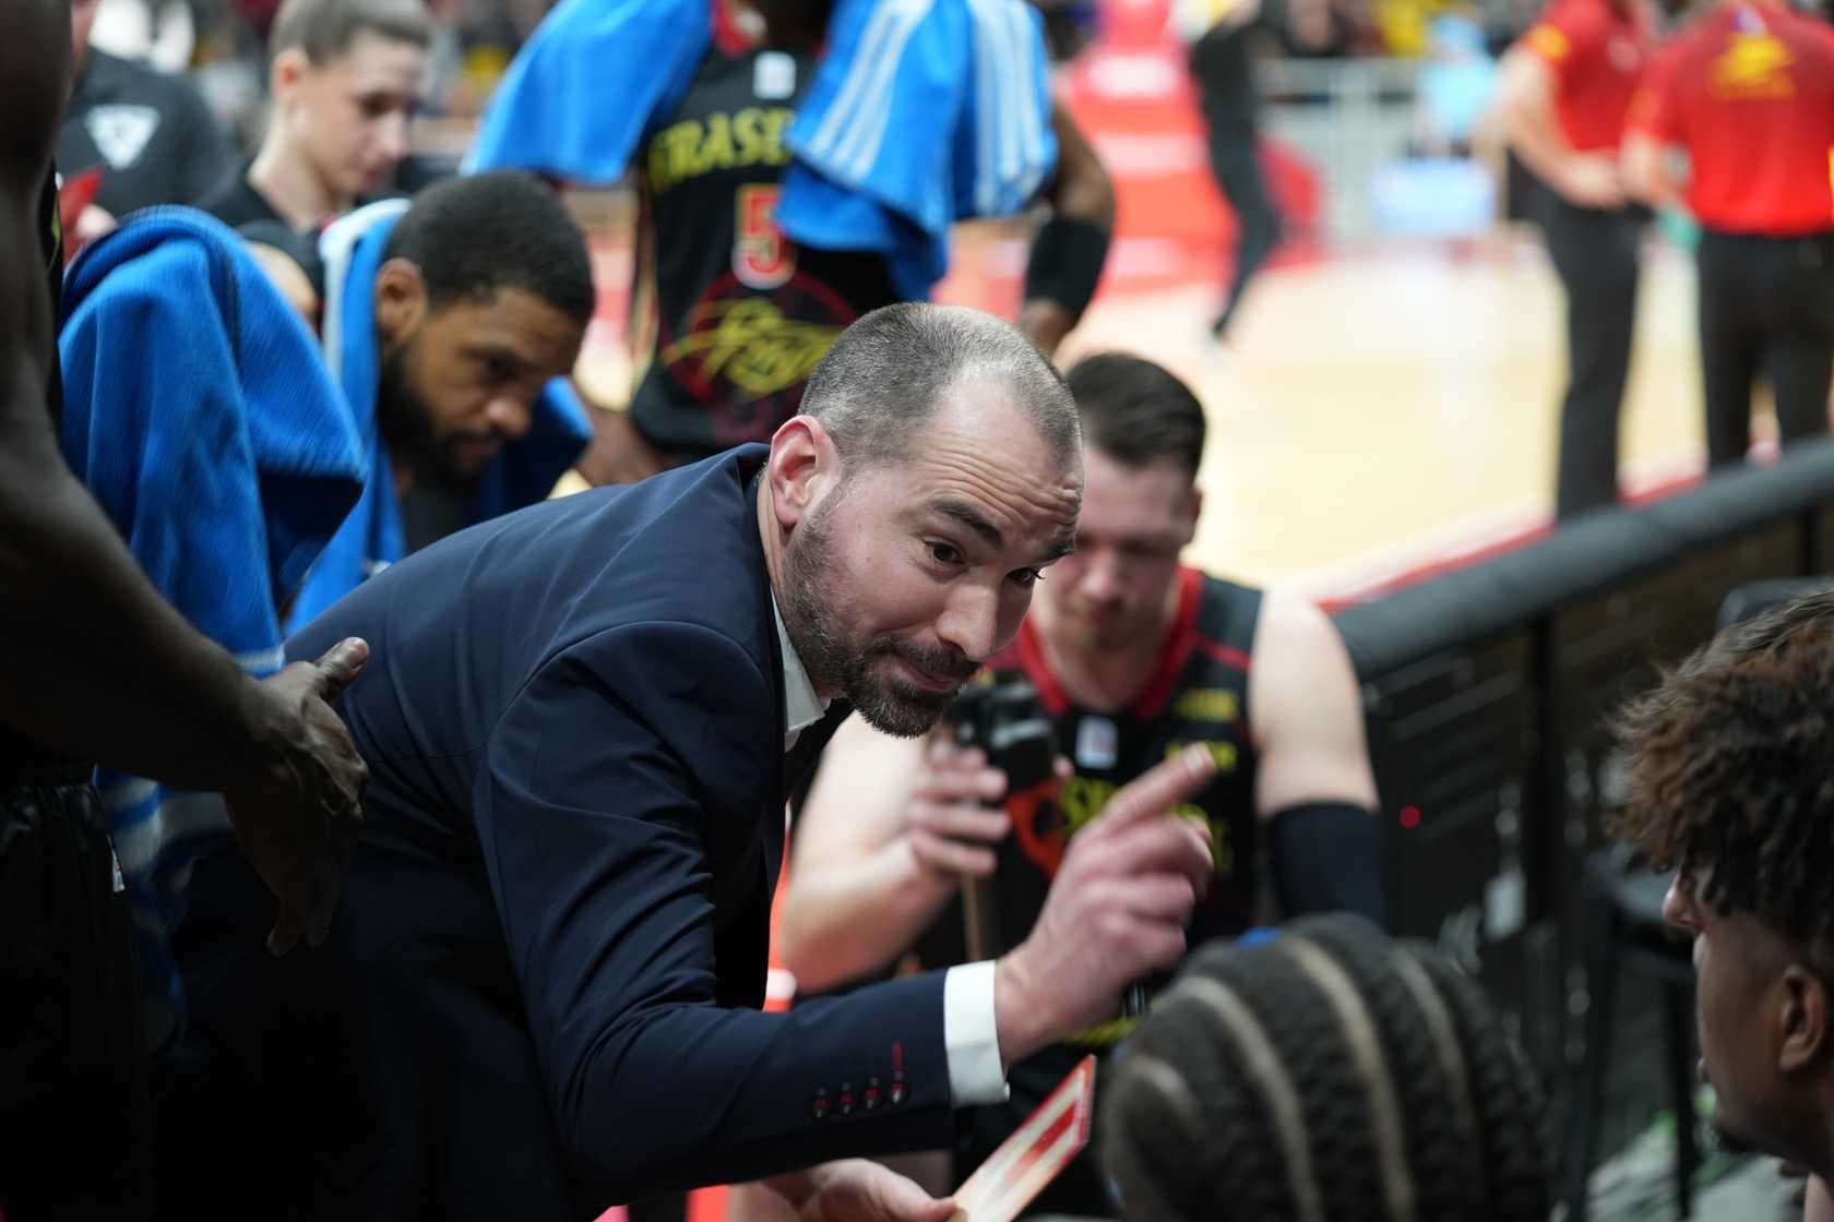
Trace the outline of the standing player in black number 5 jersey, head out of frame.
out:
M 712 38 L 697 64 L 690 64 L 682 88 L 658 99 L 625 158 L 642 198 L 638 222 L 636 300 L 653 313 L 647 335 L 647 366 L 638 377 L 627 409 L 603 412 L 600 440 L 583 467 L 592 482 L 624 482 L 658 469 L 693 462 L 743 442 L 768 442 L 796 414 L 803 383 L 822 354 L 851 321 L 915 289 L 900 282 L 880 251 L 822 249 L 789 238 L 776 211 L 785 172 L 801 152 L 792 148 L 798 108 L 834 51 L 836 0 L 706 0 L 712 7 Z M 561 5 L 554 40 L 570 37 Z M 873 18 L 886 18 L 882 31 L 867 29 L 860 57 L 875 64 L 895 59 L 888 46 L 908 46 L 911 22 L 889 20 L 899 5 L 880 5 Z M 904 5 L 910 9 L 911 5 Z M 939 5 L 941 7 L 941 5 Z M 1022 0 L 976 0 L 978 22 L 1009 33 L 1012 59 L 1000 84 L 1009 97 L 1023 93 L 1023 62 L 1042 62 L 1038 20 Z M 580 22 L 576 22 L 580 24 Z M 963 22 L 967 26 L 967 22 Z M 682 35 L 693 37 L 693 35 Z M 917 31 L 915 38 L 923 38 Z M 961 29 L 983 37 L 985 29 Z M 537 42 L 543 35 L 537 35 Z M 1014 55 L 1014 51 L 1020 51 Z M 525 55 L 528 51 L 525 49 Z M 552 46 L 537 55 L 561 55 Z M 547 79 L 554 79 L 543 62 Z M 530 75 L 536 75 L 530 66 Z M 642 104 L 646 82 L 605 73 L 583 104 L 629 108 Z M 649 73 L 651 77 L 657 73 Z M 867 73 L 869 75 L 869 73 Z M 884 86 L 889 70 L 880 73 Z M 875 82 L 842 93 L 853 128 L 869 130 Z M 510 88 L 497 106 L 578 106 L 581 92 L 565 86 Z M 559 101 L 556 99 L 559 95 Z M 856 106 L 853 106 L 856 103 Z M 1051 218 L 1033 247 L 1025 277 L 1025 302 L 1018 319 L 1033 343 L 1051 354 L 1077 324 L 1095 293 L 1113 229 L 1113 187 L 1088 141 L 1047 90 L 1025 95 L 1023 108 L 1056 141 L 1056 163 L 1036 192 L 1049 203 Z M 889 108 L 893 130 L 888 145 L 908 132 L 908 114 Z M 514 115 L 519 119 L 523 115 Z M 928 117 L 928 115 L 926 115 Z M 572 121 L 561 115 L 561 121 Z M 946 123 L 937 115 L 937 123 Z M 583 119 L 591 123 L 591 119 Z M 904 128 L 899 128 L 906 123 Z M 526 128 L 525 128 L 526 130 Z M 517 167 L 552 178 L 583 181 L 622 172 L 624 163 L 585 169 L 565 152 L 539 141 L 492 145 L 490 117 L 473 169 Z M 840 141 L 845 145 L 845 139 Z M 845 152 L 847 148 L 842 148 Z M 1020 202 L 1023 205 L 1023 202 Z M 979 211 L 979 214 L 989 214 Z M 644 343 L 642 339 L 635 343 Z

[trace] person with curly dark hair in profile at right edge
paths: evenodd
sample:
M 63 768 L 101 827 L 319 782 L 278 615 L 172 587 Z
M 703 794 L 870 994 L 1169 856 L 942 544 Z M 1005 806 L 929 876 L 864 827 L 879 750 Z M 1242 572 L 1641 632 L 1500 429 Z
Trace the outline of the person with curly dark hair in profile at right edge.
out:
M 1720 632 L 1619 716 L 1612 832 L 1676 868 L 1729 1147 L 1834 1174 L 1834 594 Z M 1814 1195 L 1825 1195 L 1821 1184 Z

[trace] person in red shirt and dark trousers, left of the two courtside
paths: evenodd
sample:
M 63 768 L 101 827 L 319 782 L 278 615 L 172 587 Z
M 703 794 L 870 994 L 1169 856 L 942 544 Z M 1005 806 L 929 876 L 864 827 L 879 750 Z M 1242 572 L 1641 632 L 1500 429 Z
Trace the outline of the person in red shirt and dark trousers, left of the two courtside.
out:
M 1566 288 L 1561 518 L 1618 500 L 1618 414 L 1647 220 L 1630 205 L 1618 147 L 1654 37 L 1651 0 L 1553 0 L 1502 62 L 1509 139 L 1548 187 L 1542 229 Z

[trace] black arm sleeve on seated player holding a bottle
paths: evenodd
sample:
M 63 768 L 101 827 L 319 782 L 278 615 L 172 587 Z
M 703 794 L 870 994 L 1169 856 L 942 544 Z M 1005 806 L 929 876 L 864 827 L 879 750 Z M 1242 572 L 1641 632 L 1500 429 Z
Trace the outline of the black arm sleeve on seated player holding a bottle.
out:
M 1357 912 L 1388 929 L 1374 812 L 1350 802 L 1302 802 L 1271 819 L 1269 837 L 1282 916 Z

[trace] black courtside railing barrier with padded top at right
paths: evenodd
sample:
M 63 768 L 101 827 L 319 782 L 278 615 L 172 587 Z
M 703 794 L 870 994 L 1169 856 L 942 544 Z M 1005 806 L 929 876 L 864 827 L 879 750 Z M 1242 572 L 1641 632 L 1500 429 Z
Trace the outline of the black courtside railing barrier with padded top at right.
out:
M 1834 572 L 1834 440 L 1337 614 L 1363 680 L 1398 933 L 1484 980 L 1553 1074 L 1585 1011 L 1579 863 L 1607 718 L 1750 581 Z

